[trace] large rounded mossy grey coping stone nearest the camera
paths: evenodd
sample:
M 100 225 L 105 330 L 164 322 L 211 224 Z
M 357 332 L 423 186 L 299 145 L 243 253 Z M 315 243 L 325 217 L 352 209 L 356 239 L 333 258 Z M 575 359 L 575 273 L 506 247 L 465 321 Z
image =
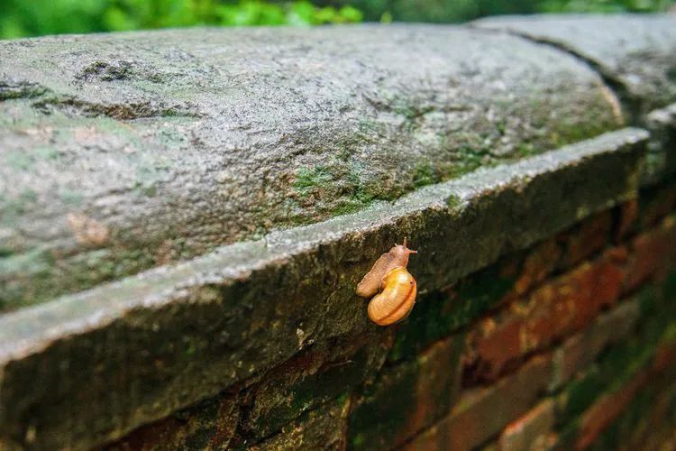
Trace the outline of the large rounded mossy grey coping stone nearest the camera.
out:
M 622 124 L 585 63 L 461 27 L 2 41 L 0 310 Z

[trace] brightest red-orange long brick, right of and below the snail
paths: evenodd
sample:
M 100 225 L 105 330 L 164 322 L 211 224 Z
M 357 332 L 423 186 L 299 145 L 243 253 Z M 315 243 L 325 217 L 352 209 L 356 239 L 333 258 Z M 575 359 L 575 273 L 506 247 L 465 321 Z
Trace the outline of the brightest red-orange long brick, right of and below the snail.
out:
M 586 327 L 617 300 L 624 277 L 617 262 L 624 256 L 622 248 L 610 250 L 535 290 L 497 318 L 482 320 L 470 334 L 466 381 L 494 380 L 526 354 Z

